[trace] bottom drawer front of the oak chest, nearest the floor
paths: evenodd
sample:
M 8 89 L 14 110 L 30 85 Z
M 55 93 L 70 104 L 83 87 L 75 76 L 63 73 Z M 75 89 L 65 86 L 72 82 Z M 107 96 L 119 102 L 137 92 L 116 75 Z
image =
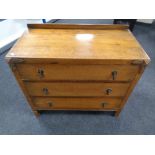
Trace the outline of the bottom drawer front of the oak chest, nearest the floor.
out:
M 33 103 L 36 109 L 60 109 L 60 110 L 102 110 L 118 109 L 121 99 L 118 98 L 52 98 L 35 97 Z

